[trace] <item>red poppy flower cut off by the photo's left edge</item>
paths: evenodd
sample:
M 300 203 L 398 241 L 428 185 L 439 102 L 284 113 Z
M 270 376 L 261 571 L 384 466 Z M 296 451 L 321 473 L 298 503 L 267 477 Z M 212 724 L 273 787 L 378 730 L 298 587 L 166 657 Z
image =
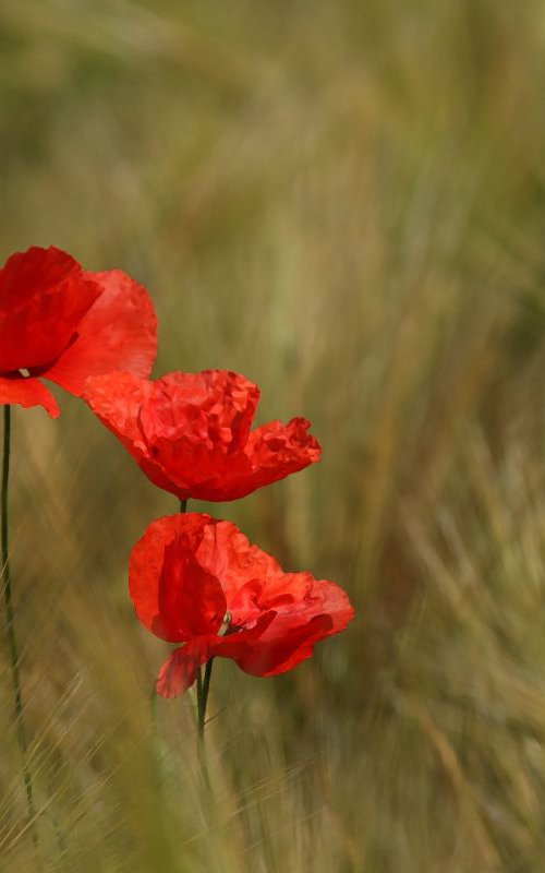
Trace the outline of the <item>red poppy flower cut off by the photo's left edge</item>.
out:
M 0 404 L 57 418 L 41 379 L 81 396 L 89 375 L 149 375 L 156 351 L 149 295 L 121 270 L 83 271 L 55 247 L 13 254 L 0 270 Z

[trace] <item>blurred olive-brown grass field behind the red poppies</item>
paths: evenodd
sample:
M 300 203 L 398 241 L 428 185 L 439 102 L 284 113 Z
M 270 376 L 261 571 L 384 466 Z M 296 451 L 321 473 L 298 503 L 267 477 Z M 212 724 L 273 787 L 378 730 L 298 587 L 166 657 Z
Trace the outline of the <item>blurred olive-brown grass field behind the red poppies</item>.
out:
M 0 27 L 2 260 L 123 267 L 156 374 L 311 418 L 320 465 L 207 509 L 358 607 L 290 675 L 216 666 L 210 793 L 126 594 L 175 502 L 82 403 L 15 409 L 40 846 L 2 655 L 1 870 L 545 870 L 543 4 L 0 0 Z

